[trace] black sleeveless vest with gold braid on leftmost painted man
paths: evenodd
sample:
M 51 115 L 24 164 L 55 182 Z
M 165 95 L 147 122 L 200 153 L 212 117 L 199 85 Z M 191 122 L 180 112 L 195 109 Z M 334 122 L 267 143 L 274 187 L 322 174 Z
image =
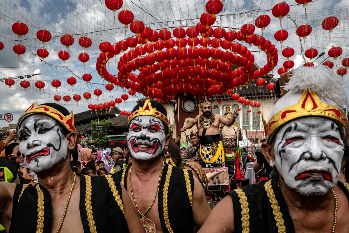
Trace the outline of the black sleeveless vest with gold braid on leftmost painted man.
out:
M 37 185 L 42 192 L 38 192 Z M 38 202 L 41 207 L 38 207 Z M 84 232 L 109 232 L 115 229 L 118 232 L 129 232 L 123 213 L 120 181 L 116 175 L 82 175 L 79 206 Z M 38 218 L 38 214 L 42 218 Z M 17 184 L 9 232 L 36 232 L 40 225 L 43 233 L 50 233 L 51 222 L 49 192 L 40 184 L 34 187 Z

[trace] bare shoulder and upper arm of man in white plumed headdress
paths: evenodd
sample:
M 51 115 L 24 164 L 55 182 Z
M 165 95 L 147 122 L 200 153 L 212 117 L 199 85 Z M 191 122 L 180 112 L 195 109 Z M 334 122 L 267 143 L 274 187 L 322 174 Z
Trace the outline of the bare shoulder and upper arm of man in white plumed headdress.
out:
M 217 221 L 212 221 L 216 219 Z M 228 233 L 234 231 L 233 202 L 228 195 L 211 210 L 198 233 Z

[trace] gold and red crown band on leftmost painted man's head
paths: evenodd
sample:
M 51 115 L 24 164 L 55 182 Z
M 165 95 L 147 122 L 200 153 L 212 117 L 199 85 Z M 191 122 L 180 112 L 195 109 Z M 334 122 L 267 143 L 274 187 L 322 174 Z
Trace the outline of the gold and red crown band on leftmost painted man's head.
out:
M 48 115 L 50 117 L 53 117 L 54 119 L 59 121 L 62 125 L 64 125 L 68 131 L 75 132 L 75 133 L 77 132 L 77 130 L 75 128 L 75 124 L 74 124 L 73 111 L 71 111 L 68 116 L 64 116 L 64 114 L 62 114 L 57 109 L 52 108 L 52 107 L 47 106 L 47 105 L 38 105 L 37 102 L 30 105 L 30 107 L 27 110 L 25 110 L 25 112 L 22 114 L 22 116 L 18 119 L 17 130 L 20 126 L 22 119 L 26 115 L 33 114 L 33 113 L 45 114 L 45 115 Z

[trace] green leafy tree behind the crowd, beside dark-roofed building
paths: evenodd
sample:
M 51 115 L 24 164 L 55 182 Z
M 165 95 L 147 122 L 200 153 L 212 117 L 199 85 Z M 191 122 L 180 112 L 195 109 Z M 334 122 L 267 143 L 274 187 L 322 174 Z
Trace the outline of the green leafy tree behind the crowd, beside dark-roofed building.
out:
M 103 148 L 109 146 L 109 138 L 107 135 L 113 132 L 113 122 L 103 119 L 99 122 L 91 121 L 91 126 L 93 129 L 93 141 L 90 141 L 89 146 L 95 148 Z M 103 130 L 96 129 L 96 126 L 103 126 Z

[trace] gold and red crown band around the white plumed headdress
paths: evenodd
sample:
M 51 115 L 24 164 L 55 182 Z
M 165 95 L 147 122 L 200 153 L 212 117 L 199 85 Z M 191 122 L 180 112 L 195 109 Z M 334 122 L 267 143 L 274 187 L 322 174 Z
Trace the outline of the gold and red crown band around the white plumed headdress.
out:
M 281 125 L 292 121 L 293 119 L 305 116 L 320 116 L 333 119 L 343 125 L 346 130 L 344 133 L 348 134 L 348 121 L 344 111 L 333 105 L 321 102 L 315 92 L 305 91 L 300 96 L 298 103 L 277 112 L 269 120 L 268 124 L 263 119 L 265 133 L 267 135 L 267 143 L 270 143 L 273 134 Z

